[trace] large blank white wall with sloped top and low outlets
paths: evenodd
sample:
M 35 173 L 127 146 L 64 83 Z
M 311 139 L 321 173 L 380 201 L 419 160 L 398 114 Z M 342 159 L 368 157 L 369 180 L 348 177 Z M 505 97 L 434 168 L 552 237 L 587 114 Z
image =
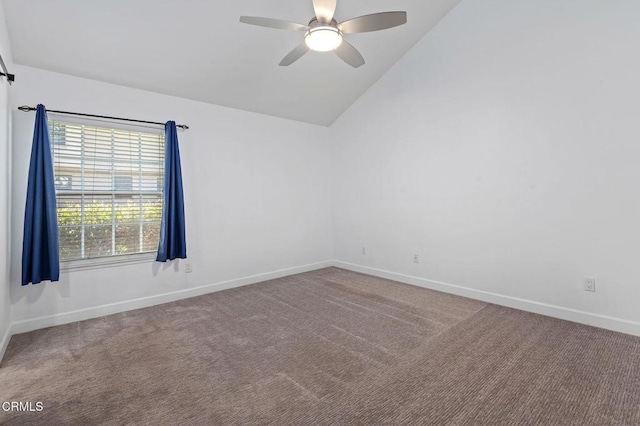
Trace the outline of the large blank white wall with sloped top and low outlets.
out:
M 638 16 L 463 0 L 331 127 L 336 259 L 640 330 Z

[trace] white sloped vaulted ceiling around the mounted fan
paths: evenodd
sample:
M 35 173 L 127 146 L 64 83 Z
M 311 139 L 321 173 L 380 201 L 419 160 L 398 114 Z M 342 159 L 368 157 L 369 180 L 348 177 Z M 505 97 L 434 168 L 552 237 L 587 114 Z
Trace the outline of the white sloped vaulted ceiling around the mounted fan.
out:
M 302 33 L 240 15 L 306 24 L 311 0 L 3 0 L 14 62 L 320 125 L 331 124 L 459 0 L 338 0 L 336 20 L 406 10 L 408 23 L 349 34 L 366 64 L 310 52 L 280 60 Z M 17 76 L 19 79 L 19 76 Z

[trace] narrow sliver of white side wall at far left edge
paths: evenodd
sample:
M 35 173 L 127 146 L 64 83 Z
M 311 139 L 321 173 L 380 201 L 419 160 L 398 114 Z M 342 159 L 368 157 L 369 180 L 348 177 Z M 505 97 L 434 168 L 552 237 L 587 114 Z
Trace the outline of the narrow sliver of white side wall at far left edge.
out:
M 4 9 L 0 3 L 0 55 L 13 73 L 9 35 L 4 19 Z M 3 340 L 9 331 L 11 304 L 9 298 L 9 196 L 11 192 L 11 120 L 9 92 L 11 87 L 6 78 L 0 78 L 0 359 L 8 341 Z

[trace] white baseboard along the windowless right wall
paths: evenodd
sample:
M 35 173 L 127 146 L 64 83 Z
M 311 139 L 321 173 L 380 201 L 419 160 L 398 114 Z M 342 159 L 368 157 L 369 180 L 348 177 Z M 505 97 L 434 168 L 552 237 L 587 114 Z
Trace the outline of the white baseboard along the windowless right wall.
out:
M 451 293 L 458 296 L 464 296 L 470 299 L 481 300 L 483 302 L 493 303 L 495 305 L 506 306 L 509 308 L 520 309 L 522 311 L 533 312 L 536 314 L 546 315 L 549 317 L 559 318 L 567 321 L 578 322 L 581 324 L 587 324 L 594 327 L 606 328 L 608 330 L 640 336 L 640 323 L 634 322 L 634 321 L 628 321 L 621 318 L 594 314 L 590 312 L 580 311 L 577 309 L 565 308 L 562 306 L 536 302 L 533 300 L 520 299 L 517 297 L 511 297 L 511 296 L 504 296 L 497 293 L 490 293 L 487 291 L 475 290 L 469 287 L 462 287 L 459 285 L 428 280 L 425 278 L 414 277 L 411 275 L 404 275 L 396 272 L 384 271 L 382 269 L 370 268 L 367 266 L 356 265 L 348 262 L 341 262 L 338 260 L 333 261 L 333 266 L 347 269 L 354 272 L 361 272 L 367 275 L 373 275 L 380 278 L 386 278 L 389 280 L 398 281 L 405 284 L 411 284 L 418 287 L 438 290 L 444 293 Z

